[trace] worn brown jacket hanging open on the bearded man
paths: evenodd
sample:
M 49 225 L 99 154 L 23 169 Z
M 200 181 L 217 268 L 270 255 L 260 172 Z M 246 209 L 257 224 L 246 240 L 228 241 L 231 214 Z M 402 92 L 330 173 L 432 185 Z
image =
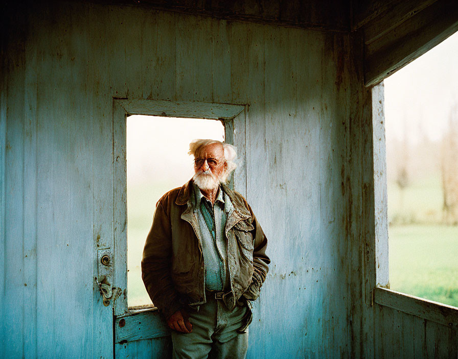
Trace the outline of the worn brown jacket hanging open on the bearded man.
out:
M 242 295 L 249 300 L 258 297 L 270 260 L 265 254 L 267 239 L 245 198 L 222 187 L 234 207 L 225 227 L 232 293 L 224 298 L 233 307 Z M 143 250 L 143 282 L 166 318 L 187 304 L 205 303 L 203 255 L 191 191 L 192 180 L 159 199 Z

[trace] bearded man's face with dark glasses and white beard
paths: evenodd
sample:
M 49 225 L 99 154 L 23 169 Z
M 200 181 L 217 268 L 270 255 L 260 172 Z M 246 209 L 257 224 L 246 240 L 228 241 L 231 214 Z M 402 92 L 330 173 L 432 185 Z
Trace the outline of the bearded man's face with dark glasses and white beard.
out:
M 194 155 L 194 182 L 202 190 L 211 190 L 219 185 L 226 169 L 224 148 L 220 143 L 201 146 Z

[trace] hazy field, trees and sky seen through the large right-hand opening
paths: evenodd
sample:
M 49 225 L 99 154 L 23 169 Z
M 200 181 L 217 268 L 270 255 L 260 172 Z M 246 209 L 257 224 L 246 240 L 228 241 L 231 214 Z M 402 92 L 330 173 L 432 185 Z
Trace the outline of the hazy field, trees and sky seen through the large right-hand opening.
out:
M 384 81 L 390 289 L 458 307 L 458 33 Z

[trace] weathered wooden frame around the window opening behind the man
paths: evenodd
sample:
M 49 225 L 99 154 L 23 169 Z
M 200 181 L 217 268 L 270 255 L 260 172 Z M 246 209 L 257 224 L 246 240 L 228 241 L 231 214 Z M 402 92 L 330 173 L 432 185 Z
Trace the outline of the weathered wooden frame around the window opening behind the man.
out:
M 113 98 L 113 233 L 114 286 L 122 289 L 113 303 L 113 314 L 120 318 L 157 310 L 151 304 L 129 309 L 127 306 L 127 117 L 147 115 L 220 120 L 224 124 L 225 142 L 238 149 L 243 159 L 235 170 L 230 186 L 246 195 L 246 117 L 247 105 L 214 102 L 175 102 L 155 99 Z

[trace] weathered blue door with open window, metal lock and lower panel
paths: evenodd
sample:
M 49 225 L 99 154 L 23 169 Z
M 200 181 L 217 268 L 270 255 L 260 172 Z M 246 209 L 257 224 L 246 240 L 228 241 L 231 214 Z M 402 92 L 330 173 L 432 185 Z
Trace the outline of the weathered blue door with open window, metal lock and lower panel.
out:
M 113 311 L 113 347 L 116 358 L 166 358 L 171 356 L 170 331 L 154 306 L 132 309 L 127 305 L 127 182 L 126 120 L 128 115 L 152 115 L 224 120 L 225 141 L 238 147 L 245 158 L 245 107 L 243 105 L 162 100 L 113 101 L 113 247 L 99 250 L 100 283 L 108 291 L 106 305 Z M 237 131 L 234 131 L 234 129 Z M 246 194 L 244 161 L 234 174 L 233 185 Z M 105 264 L 104 264 L 105 263 Z M 111 292 L 109 291 L 111 289 Z M 109 302 L 108 302 L 109 301 Z

